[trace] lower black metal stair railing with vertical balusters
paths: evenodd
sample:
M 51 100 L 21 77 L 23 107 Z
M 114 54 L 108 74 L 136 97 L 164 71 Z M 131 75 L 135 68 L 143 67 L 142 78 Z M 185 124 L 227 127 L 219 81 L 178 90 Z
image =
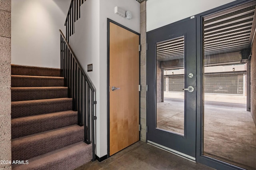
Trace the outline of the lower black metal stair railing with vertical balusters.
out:
M 92 136 L 92 161 L 95 160 L 96 90 L 80 65 L 68 41 L 60 31 L 60 69 L 68 87 L 68 97 L 73 99 L 73 110 L 78 112 L 78 125 L 84 125 L 84 142 L 90 144 Z M 92 126 L 90 124 L 92 123 Z M 90 134 L 92 132 L 92 134 Z

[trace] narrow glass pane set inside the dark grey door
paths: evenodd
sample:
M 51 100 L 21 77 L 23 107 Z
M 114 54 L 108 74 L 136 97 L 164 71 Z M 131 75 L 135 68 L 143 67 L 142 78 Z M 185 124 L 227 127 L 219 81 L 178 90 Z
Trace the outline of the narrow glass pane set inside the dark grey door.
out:
M 184 36 L 156 51 L 156 128 L 184 136 Z

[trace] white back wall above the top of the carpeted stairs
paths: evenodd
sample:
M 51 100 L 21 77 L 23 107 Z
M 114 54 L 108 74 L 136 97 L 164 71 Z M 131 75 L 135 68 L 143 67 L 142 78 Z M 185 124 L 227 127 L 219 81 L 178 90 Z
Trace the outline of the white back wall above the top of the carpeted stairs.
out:
M 58 30 L 65 30 L 70 2 L 12 0 L 12 64 L 60 68 Z

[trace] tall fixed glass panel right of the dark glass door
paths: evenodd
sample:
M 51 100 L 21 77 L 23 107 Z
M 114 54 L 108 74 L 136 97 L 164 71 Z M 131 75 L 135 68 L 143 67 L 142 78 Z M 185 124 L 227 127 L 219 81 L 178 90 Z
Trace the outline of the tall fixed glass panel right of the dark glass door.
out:
M 248 170 L 256 169 L 256 124 L 247 89 L 255 4 L 203 18 L 202 154 Z

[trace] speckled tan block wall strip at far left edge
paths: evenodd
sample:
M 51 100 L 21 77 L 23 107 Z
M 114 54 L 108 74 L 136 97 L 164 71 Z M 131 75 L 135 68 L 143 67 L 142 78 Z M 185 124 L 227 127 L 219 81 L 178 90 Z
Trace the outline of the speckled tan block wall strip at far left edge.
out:
M 0 0 L 0 160 L 11 158 L 11 0 Z M 11 169 L 0 164 L 0 170 Z

